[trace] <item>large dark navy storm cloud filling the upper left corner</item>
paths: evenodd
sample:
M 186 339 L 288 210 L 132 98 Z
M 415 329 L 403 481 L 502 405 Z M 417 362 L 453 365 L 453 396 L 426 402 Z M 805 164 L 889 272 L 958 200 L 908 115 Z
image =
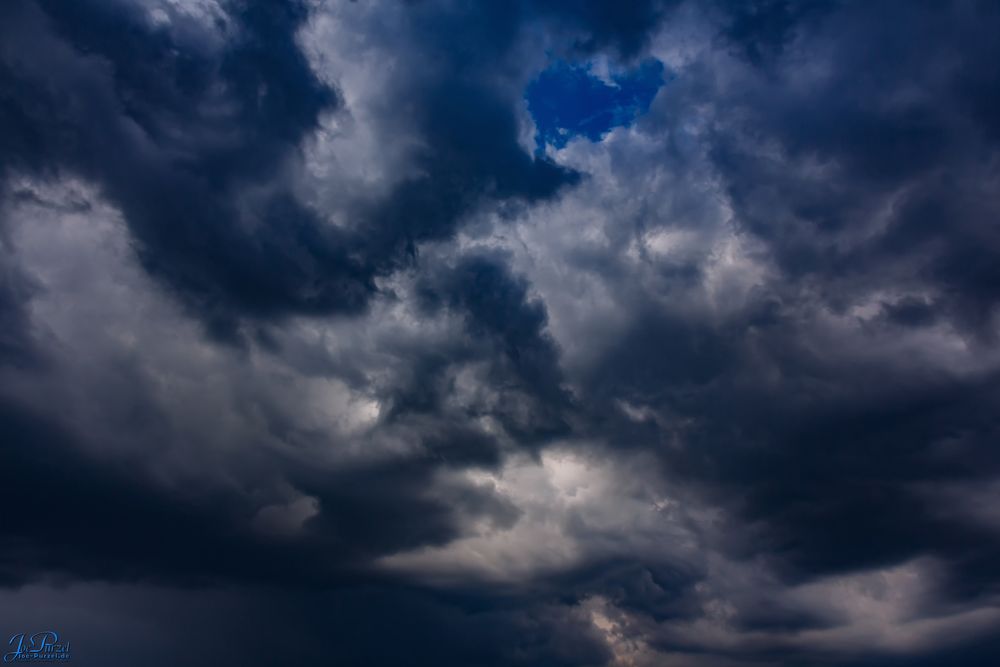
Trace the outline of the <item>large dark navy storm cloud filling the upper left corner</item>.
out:
M 335 101 L 295 46 L 301 8 L 246 5 L 223 54 L 185 49 L 114 4 L 5 11 L 15 164 L 97 179 L 148 270 L 209 324 L 363 305 L 370 268 L 280 186 L 250 204 L 252 221 L 237 210 L 241 188 L 273 179 Z

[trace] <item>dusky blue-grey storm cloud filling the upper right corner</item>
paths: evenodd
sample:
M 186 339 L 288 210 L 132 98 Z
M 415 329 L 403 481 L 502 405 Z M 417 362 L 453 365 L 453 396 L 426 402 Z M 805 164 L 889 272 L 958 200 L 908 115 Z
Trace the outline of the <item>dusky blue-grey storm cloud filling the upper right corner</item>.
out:
M 797 83 L 793 65 L 765 61 L 750 76 L 767 79 L 731 100 L 745 131 L 823 176 L 724 137 L 718 164 L 734 202 L 790 273 L 818 274 L 829 291 L 848 277 L 926 287 L 936 312 L 985 334 L 1000 294 L 997 116 L 981 112 L 1000 83 L 996 7 L 855 3 L 824 16 L 799 26 L 796 57 L 816 51 L 826 72 Z M 871 224 L 866 209 L 889 197 L 886 228 L 854 241 Z

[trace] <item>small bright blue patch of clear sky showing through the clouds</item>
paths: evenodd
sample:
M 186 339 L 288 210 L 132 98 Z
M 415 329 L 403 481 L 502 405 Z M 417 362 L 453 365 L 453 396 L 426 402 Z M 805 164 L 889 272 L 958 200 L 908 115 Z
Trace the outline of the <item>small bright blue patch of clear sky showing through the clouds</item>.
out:
M 536 150 L 562 148 L 578 136 L 600 141 L 611 129 L 631 125 L 664 81 L 663 63 L 656 59 L 608 77 L 598 76 L 592 63 L 554 62 L 525 89 L 538 130 Z

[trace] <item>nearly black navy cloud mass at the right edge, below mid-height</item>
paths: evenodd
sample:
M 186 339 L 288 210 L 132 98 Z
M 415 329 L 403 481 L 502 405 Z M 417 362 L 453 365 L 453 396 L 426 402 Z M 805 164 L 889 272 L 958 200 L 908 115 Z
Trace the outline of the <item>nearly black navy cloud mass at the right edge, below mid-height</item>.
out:
M 997 475 L 996 377 L 879 377 L 808 358 L 781 368 L 795 379 L 773 391 L 717 380 L 668 400 L 700 415 L 690 458 L 674 462 L 681 474 L 724 484 L 799 576 L 933 553 L 961 563 L 956 575 L 969 581 L 959 588 L 990 585 L 995 534 L 938 514 L 918 489 Z

